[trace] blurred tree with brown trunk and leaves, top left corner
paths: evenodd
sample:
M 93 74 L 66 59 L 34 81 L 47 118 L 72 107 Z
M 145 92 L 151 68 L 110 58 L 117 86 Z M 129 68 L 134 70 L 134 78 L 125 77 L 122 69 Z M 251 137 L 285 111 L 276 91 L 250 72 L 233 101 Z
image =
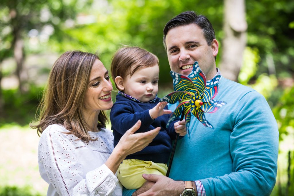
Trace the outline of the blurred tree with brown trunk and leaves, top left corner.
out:
M 26 39 L 40 36 L 49 39 L 56 32 L 60 34 L 66 22 L 75 19 L 76 13 L 85 4 L 78 0 L 2 0 L 0 4 L 0 39 L 4 43 L 0 48 L 0 62 L 13 55 L 16 61 L 16 76 L 19 90 L 24 92 L 26 76 L 23 72 L 24 57 L 29 49 L 24 48 Z M 61 41 L 59 39 L 59 41 Z

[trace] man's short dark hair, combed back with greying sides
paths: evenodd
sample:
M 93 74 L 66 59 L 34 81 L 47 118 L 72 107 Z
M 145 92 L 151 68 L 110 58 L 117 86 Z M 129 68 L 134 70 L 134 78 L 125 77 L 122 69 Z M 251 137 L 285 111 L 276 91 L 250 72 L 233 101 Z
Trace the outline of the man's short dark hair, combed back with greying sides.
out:
M 202 29 L 206 42 L 208 46 L 210 46 L 212 40 L 216 38 L 216 35 L 214 34 L 214 29 L 210 21 L 203 15 L 197 15 L 194 11 L 186 11 L 179 14 L 178 16 L 168 21 L 168 23 L 166 23 L 166 26 L 163 29 L 163 45 L 165 49 L 166 34 L 170 29 L 176 28 L 178 26 L 185 26 L 192 23 L 198 25 Z

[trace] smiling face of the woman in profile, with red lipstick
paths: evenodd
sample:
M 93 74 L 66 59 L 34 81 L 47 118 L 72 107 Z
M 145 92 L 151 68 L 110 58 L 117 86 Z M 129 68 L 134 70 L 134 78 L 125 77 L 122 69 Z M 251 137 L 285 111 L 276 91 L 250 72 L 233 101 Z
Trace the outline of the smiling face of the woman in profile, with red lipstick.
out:
M 88 89 L 84 99 L 84 111 L 88 114 L 111 109 L 112 84 L 108 71 L 98 59 L 95 60 L 89 78 Z

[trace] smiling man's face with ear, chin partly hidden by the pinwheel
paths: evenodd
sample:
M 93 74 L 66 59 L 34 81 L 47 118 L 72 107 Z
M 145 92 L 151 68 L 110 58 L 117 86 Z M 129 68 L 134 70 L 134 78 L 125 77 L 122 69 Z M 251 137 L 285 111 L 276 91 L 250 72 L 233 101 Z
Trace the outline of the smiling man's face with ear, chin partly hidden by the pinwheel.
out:
M 193 69 L 193 63 L 198 65 L 212 79 L 216 74 L 215 56 L 218 54 L 218 42 L 214 39 L 209 46 L 196 24 L 179 26 L 166 34 L 166 48 L 171 70 L 188 76 Z

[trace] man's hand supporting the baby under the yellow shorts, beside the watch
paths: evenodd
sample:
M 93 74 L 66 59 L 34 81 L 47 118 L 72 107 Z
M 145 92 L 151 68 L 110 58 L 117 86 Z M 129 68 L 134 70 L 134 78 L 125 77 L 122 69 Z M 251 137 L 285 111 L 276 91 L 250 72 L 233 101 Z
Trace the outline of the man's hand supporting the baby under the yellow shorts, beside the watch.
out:
M 174 181 L 163 175 L 143 174 L 143 178 L 147 180 L 147 182 L 140 189 L 134 192 L 133 196 L 138 194 L 138 196 L 178 196 L 185 189 L 185 182 Z M 150 188 L 152 182 L 155 184 Z

